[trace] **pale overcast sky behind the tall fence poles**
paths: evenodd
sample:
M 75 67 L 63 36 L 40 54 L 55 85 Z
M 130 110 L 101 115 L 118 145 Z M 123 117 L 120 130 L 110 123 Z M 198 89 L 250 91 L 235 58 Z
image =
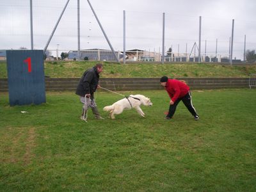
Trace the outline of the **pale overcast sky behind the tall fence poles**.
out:
M 44 49 L 67 0 L 33 0 L 34 49 Z M 202 16 L 201 51 L 228 56 L 234 24 L 233 58 L 242 59 L 246 49 L 256 49 L 255 0 L 90 0 L 115 51 L 123 51 L 123 10 L 126 13 L 126 50 L 162 50 L 163 13 L 165 47 L 190 53 L 198 45 Z M 80 0 L 81 49 L 109 49 L 86 0 Z M 0 1 L 0 49 L 31 48 L 29 0 Z M 49 44 L 49 50 L 77 49 L 77 0 L 67 10 Z M 178 50 L 179 47 L 179 50 Z M 54 52 L 54 51 L 52 51 Z

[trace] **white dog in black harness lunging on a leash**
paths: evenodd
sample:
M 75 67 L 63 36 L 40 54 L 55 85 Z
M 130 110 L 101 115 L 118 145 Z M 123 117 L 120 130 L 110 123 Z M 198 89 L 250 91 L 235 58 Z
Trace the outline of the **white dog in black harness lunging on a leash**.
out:
M 127 98 L 116 101 L 111 106 L 106 106 L 103 108 L 104 111 L 109 111 L 109 115 L 112 119 L 115 119 L 115 114 L 118 115 L 124 111 L 124 109 L 135 108 L 136 111 L 141 115 L 145 116 L 140 108 L 140 105 L 152 106 L 152 102 L 148 97 L 144 95 L 130 95 Z

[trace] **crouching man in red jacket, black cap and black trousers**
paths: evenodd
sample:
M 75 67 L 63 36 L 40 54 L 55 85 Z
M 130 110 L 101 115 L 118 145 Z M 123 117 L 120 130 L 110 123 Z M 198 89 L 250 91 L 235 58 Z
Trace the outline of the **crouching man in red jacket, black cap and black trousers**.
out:
M 182 100 L 186 108 L 188 108 L 189 112 L 194 116 L 195 120 L 199 119 L 199 116 L 196 114 L 196 109 L 192 104 L 189 86 L 186 83 L 178 81 L 177 79 L 168 79 L 166 76 L 161 77 L 160 82 L 171 98 L 170 108 L 168 114 L 165 117 L 166 120 L 172 118 L 180 100 Z

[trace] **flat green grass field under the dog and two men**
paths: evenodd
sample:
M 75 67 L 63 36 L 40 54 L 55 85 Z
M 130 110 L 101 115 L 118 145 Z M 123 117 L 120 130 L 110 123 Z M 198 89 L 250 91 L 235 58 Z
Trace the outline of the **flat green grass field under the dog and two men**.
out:
M 198 121 L 182 103 L 164 120 L 167 93 L 140 93 L 154 104 L 142 107 L 145 118 L 95 120 L 89 111 L 88 123 L 74 93 L 15 107 L 1 94 L 0 191 L 256 190 L 255 89 L 192 92 Z M 102 116 L 118 99 L 97 93 Z

